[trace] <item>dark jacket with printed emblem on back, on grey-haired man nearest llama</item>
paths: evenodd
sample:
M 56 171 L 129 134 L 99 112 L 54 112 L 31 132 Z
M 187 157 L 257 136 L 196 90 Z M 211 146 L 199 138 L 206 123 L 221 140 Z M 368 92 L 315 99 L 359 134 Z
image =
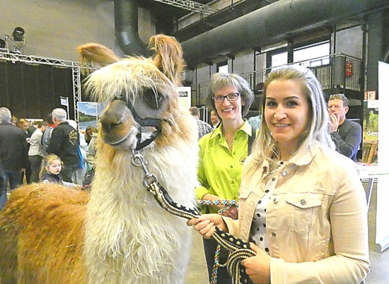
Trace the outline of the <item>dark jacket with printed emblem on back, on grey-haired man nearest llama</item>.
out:
M 52 131 L 47 153 L 57 155 L 65 165 L 79 165 L 79 132 L 67 122 L 58 124 Z

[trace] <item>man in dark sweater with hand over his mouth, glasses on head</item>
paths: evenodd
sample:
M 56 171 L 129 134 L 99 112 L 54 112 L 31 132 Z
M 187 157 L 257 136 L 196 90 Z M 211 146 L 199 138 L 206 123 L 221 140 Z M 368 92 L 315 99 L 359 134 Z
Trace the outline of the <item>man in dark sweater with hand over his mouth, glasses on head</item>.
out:
M 330 95 L 328 112 L 330 112 L 330 134 L 337 146 L 337 151 L 356 162 L 356 153 L 362 139 L 361 125 L 346 119 L 349 100 L 344 94 Z

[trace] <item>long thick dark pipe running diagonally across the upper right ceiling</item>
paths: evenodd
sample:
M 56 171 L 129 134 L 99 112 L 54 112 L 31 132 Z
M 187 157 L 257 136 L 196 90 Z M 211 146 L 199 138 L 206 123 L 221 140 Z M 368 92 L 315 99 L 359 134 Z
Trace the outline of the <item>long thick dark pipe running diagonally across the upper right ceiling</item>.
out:
M 280 0 L 181 42 L 187 66 L 389 6 L 388 0 Z

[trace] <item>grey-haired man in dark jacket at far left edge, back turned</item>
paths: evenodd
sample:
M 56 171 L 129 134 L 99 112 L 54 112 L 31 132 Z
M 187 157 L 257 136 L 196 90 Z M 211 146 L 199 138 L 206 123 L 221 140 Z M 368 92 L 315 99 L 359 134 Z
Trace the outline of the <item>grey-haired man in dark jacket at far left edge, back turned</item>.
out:
M 0 189 L 0 210 L 7 201 L 6 191 L 21 185 L 21 172 L 28 162 L 28 143 L 23 130 L 11 124 L 11 112 L 0 107 L 0 160 L 4 186 Z

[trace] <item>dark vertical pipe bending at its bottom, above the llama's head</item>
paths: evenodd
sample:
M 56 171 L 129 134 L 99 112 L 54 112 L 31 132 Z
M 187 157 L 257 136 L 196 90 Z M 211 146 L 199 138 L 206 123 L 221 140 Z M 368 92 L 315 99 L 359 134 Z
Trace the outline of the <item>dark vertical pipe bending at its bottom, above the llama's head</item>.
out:
M 127 55 L 149 57 L 151 52 L 139 37 L 136 0 L 114 0 L 115 37 Z

